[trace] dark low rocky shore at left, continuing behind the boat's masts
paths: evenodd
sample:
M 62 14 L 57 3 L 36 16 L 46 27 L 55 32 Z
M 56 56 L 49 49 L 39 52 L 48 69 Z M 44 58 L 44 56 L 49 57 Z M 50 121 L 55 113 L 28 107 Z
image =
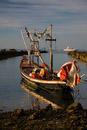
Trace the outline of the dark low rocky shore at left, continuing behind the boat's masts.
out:
M 41 53 L 47 53 L 45 50 L 40 50 Z M 16 49 L 2 49 L 0 50 L 0 60 L 3 59 L 8 59 L 11 57 L 16 57 L 16 56 L 22 56 L 22 55 L 27 55 L 27 51 L 25 50 L 16 50 Z

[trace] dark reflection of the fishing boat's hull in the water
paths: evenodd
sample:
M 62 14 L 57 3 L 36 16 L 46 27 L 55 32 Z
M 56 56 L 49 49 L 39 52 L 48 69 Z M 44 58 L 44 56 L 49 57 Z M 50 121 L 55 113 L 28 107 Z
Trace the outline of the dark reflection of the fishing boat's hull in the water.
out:
M 25 91 L 36 98 L 36 102 L 40 101 L 45 102 L 46 104 L 51 104 L 53 108 L 66 108 L 74 102 L 73 96 L 70 92 L 61 93 L 56 89 L 50 91 L 48 89 L 43 89 L 40 86 L 34 88 L 24 79 L 21 80 L 20 85 Z

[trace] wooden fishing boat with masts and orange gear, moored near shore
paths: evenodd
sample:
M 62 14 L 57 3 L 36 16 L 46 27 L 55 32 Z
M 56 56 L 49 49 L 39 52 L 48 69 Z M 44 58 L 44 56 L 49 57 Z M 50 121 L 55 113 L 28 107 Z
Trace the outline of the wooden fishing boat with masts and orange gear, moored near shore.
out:
M 29 47 L 24 34 L 29 39 Z M 38 33 L 36 29 L 30 31 L 27 27 L 25 27 L 25 31 L 23 32 L 21 28 L 21 35 L 28 52 L 28 57 L 23 56 L 20 63 L 20 72 L 22 77 L 31 86 L 33 85 L 35 88 L 39 86 L 50 90 L 63 90 L 68 86 L 77 89 L 76 85 L 80 82 L 80 69 L 76 61 L 64 64 L 59 71 L 53 70 L 52 42 L 56 41 L 56 38 L 52 36 L 52 24 L 42 33 Z M 50 42 L 50 65 L 44 62 L 39 51 L 40 39 L 42 38 Z M 37 58 L 37 62 L 34 60 L 35 57 Z

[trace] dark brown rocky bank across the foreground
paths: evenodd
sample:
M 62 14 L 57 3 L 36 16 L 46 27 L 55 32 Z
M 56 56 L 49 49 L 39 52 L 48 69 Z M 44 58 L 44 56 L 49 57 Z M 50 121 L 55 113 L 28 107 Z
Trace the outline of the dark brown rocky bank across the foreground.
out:
M 0 113 L 0 130 L 85 130 L 87 110 L 73 103 L 67 109 L 53 110 L 51 105 L 44 109 L 17 109 Z

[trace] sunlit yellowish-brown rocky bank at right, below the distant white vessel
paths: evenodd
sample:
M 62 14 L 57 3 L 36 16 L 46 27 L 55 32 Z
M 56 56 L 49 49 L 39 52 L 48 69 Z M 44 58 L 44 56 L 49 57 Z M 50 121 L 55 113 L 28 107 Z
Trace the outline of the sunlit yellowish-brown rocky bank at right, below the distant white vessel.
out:
M 72 56 L 73 58 L 77 59 L 78 61 L 87 63 L 87 52 L 86 51 L 74 51 L 74 52 L 68 52 L 67 54 Z

